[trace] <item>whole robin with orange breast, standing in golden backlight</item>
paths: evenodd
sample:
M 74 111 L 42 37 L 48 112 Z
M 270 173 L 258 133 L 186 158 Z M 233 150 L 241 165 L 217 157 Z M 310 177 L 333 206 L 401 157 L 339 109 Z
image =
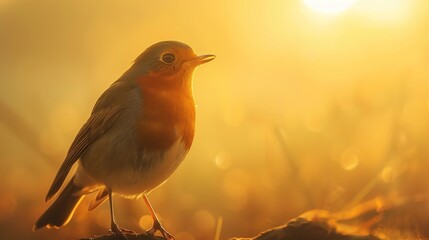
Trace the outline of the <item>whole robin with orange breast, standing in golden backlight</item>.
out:
M 109 199 L 111 231 L 125 237 L 115 223 L 112 195 L 143 198 L 154 220 L 149 234 L 160 224 L 147 194 L 164 183 L 188 153 L 194 138 L 194 69 L 215 58 L 197 56 L 176 41 L 159 42 L 140 54 L 134 64 L 98 99 L 61 165 L 45 201 L 53 198 L 72 165 L 76 173 L 34 230 L 67 224 L 85 195 L 98 192 L 89 210 Z

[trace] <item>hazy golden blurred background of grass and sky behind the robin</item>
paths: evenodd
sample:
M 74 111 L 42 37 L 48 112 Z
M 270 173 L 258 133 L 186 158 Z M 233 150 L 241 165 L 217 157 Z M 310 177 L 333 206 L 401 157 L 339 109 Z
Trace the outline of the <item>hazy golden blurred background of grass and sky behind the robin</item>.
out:
M 195 73 L 191 152 L 150 194 L 176 239 L 254 236 L 310 209 L 428 193 L 428 11 L 424 0 L 357 0 L 337 15 L 299 0 L 1 0 L 2 237 L 106 233 L 108 205 L 87 201 L 61 230 L 31 229 L 98 96 L 167 39 L 217 55 Z M 150 227 L 142 201 L 114 200 L 122 227 Z M 428 216 L 423 199 L 383 226 L 428 237 Z

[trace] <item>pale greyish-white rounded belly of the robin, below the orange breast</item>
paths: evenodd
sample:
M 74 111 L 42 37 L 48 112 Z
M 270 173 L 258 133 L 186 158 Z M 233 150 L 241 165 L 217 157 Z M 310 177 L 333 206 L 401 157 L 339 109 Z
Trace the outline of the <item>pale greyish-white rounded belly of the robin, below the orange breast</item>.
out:
M 163 184 L 187 154 L 180 138 L 164 153 L 138 150 L 130 146 L 135 141 L 113 144 L 111 139 L 99 139 L 82 158 L 75 177 L 78 185 L 89 189 L 105 185 L 124 197 L 140 197 Z

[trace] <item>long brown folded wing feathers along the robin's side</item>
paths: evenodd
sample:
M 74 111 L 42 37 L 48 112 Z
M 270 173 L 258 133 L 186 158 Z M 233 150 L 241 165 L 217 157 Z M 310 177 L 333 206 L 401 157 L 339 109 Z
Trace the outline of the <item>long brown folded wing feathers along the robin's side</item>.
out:
M 51 199 L 58 192 L 73 164 L 85 153 L 95 140 L 112 126 L 119 112 L 120 109 L 116 107 L 103 109 L 91 115 L 74 139 L 63 164 L 55 176 L 45 201 Z

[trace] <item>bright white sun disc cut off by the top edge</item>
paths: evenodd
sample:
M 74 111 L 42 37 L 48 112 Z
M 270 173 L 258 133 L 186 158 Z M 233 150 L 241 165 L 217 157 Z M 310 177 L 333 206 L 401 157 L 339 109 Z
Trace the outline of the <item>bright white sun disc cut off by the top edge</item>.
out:
M 349 9 L 357 0 L 303 0 L 314 11 L 337 14 Z

